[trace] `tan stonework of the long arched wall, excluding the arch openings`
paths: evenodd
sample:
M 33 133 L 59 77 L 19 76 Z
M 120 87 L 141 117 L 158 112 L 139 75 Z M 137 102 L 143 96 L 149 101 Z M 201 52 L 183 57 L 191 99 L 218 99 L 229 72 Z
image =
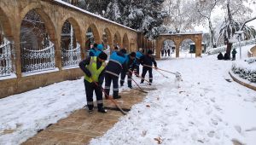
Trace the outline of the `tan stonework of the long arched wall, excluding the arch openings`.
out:
M 25 15 L 32 9 L 44 20 L 50 41 L 55 44 L 55 67 L 58 71 L 26 76 L 21 73 L 20 67 L 20 24 Z M 129 51 L 136 51 L 138 48 L 137 31 L 95 14 L 90 14 L 83 9 L 52 0 L 1 0 L 0 25 L 3 28 L 4 37 L 8 38 L 13 46 L 12 62 L 16 77 L 0 78 L 0 98 L 83 76 L 79 67 L 70 69 L 61 67 L 61 28 L 66 20 L 73 25 L 75 36 L 78 43 L 81 44 L 83 59 L 86 57 L 85 33 L 89 27 L 92 28 L 98 44 L 102 42 L 104 30 L 108 30 L 110 35 L 108 42 L 111 49 L 113 49 L 115 35 L 119 37 L 119 46 L 123 47 L 124 44 Z

